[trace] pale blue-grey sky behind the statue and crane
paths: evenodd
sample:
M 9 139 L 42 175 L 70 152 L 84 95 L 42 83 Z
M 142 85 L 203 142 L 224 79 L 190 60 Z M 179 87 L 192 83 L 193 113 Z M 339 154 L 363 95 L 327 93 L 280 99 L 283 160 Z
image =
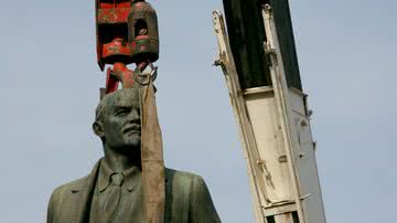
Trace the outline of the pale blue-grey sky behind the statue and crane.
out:
M 216 57 L 221 0 L 150 1 L 160 19 L 165 161 L 201 174 L 226 223 L 253 222 L 246 166 Z M 397 3 L 291 0 L 328 222 L 395 222 Z M 57 185 L 103 156 L 94 0 L 0 8 L 1 222 L 44 222 Z

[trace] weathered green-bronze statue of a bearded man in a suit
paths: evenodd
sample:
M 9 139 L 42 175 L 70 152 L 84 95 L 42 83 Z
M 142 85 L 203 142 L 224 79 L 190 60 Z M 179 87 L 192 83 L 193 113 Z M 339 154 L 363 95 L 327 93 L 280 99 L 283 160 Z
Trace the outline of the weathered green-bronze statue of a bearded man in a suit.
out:
M 96 109 L 94 132 L 104 158 L 85 178 L 54 190 L 47 223 L 148 223 L 141 167 L 139 89 L 106 95 Z M 204 180 L 165 168 L 164 223 L 221 222 Z

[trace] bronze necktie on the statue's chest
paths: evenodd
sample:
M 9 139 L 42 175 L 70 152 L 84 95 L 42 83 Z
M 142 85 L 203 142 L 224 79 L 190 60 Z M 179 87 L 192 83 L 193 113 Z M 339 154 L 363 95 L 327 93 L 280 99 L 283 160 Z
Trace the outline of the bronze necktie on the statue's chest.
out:
M 103 206 L 103 212 L 105 213 L 105 222 L 106 223 L 112 222 L 119 211 L 124 174 L 122 173 L 112 173 L 110 179 L 111 179 L 111 182 L 110 182 L 108 189 L 106 190 L 107 199 Z

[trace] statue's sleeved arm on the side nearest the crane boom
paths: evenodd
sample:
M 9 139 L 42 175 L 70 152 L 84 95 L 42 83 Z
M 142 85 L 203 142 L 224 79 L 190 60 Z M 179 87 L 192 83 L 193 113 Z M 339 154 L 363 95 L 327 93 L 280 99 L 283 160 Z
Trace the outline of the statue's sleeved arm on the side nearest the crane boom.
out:
M 221 223 L 208 188 L 201 177 L 194 179 L 192 197 L 191 223 Z

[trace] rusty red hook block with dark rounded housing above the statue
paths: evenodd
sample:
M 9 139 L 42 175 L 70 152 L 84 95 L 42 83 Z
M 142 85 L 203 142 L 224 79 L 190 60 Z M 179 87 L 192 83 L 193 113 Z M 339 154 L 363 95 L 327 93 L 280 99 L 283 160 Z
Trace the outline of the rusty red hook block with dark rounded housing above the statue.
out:
M 159 28 L 154 9 L 146 1 L 96 0 L 97 60 L 106 64 L 159 59 Z

